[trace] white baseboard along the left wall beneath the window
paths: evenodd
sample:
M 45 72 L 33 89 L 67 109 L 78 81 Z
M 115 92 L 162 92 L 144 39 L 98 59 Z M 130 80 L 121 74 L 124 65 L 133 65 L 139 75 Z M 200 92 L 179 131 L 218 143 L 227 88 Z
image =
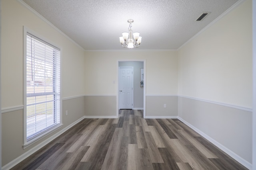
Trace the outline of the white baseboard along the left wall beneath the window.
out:
M 2 170 L 9 170 L 12 167 L 14 167 L 15 165 L 17 165 L 18 163 L 20 163 L 22 160 L 28 158 L 28 156 L 34 154 L 36 151 L 38 151 L 39 149 L 41 149 L 42 147 L 44 147 L 45 145 L 47 145 L 48 143 L 50 143 L 51 141 L 53 141 L 54 139 L 56 139 L 56 137 L 60 136 L 62 133 L 66 132 L 68 129 L 70 129 L 71 127 L 73 127 L 74 125 L 76 125 L 77 123 L 79 123 L 80 121 L 82 121 L 84 119 L 84 116 L 81 117 L 80 119 L 78 119 L 77 121 L 73 122 L 72 124 L 68 125 L 67 127 L 65 127 L 64 129 L 62 129 L 61 131 L 59 131 L 58 133 L 55 133 L 54 135 L 52 135 L 50 138 L 46 139 L 45 141 L 39 143 L 38 145 L 36 145 L 35 147 L 33 147 L 32 149 L 28 150 L 27 152 L 25 152 L 24 154 L 20 155 L 18 158 L 12 160 L 11 162 L 9 162 L 8 164 L 6 164 L 5 166 L 2 167 Z

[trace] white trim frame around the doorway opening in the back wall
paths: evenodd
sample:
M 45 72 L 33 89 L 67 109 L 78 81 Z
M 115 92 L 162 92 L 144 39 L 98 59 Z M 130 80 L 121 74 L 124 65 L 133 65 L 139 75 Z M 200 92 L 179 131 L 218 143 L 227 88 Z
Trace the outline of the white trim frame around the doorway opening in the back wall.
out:
M 119 62 L 120 61 L 141 61 L 144 67 L 144 87 L 143 87 L 143 117 L 146 117 L 146 59 L 118 59 L 116 61 L 116 117 L 119 114 Z M 134 107 L 132 107 L 134 108 Z

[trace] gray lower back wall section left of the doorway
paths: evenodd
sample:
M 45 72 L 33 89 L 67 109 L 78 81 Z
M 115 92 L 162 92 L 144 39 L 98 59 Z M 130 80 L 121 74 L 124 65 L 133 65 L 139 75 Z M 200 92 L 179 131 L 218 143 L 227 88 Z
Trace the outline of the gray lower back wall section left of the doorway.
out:
M 85 116 L 116 116 L 116 96 L 85 96 Z

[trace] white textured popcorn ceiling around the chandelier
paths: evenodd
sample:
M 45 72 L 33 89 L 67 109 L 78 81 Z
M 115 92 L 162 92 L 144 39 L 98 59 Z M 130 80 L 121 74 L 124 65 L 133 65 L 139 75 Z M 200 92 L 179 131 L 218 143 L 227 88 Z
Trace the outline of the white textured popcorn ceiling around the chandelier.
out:
M 178 49 L 240 0 L 23 1 L 85 50 L 113 50 L 123 49 L 128 19 L 142 36 L 138 49 Z M 203 12 L 211 13 L 195 21 Z

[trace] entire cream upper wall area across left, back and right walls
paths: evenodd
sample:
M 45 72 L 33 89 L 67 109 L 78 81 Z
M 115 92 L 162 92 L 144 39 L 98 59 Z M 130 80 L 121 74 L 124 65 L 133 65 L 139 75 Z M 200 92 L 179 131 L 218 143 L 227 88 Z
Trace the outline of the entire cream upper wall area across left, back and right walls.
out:
M 23 104 L 23 25 L 62 49 L 63 98 L 116 95 L 117 84 L 113 81 L 117 82 L 117 60 L 146 59 L 146 95 L 179 94 L 252 106 L 251 0 L 178 52 L 136 49 L 84 52 L 16 0 L 2 0 L 1 10 L 2 107 Z

